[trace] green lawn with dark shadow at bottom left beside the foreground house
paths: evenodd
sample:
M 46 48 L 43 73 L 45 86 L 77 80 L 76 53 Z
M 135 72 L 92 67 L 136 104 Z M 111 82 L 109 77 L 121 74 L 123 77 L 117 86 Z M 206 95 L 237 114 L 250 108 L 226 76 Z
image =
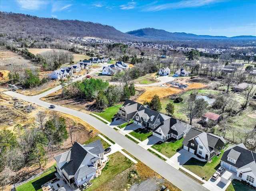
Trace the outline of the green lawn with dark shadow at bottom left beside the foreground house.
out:
M 56 173 L 56 169 L 52 168 L 51 170 L 43 173 L 42 175 L 16 187 L 16 191 L 42 191 L 42 185 L 52 179 L 54 179 L 56 176 L 54 175 Z

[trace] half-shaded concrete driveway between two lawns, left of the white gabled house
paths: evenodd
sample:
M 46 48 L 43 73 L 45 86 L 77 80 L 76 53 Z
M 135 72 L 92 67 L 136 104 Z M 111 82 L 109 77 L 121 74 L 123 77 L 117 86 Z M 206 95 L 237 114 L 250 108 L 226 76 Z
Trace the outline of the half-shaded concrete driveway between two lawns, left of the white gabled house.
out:
M 182 149 L 170 159 L 168 159 L 166 163 L 172 165 L 176 169 L 179 169 L 180 166 L 184 165 L 192 157 L 194 157 L 194 154 Z

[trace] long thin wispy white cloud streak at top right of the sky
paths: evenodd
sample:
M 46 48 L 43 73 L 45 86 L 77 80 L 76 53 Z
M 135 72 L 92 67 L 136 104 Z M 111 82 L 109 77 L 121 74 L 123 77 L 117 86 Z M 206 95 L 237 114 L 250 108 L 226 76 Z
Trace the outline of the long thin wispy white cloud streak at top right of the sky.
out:
M 182 0 L 180 2 L 175 3 L 166 3 L 157 5 L 157 2 L 153 4 L 145 5 L 142 11 L 150 12 L 150 11 L 160 11 L 160 10 L 169 10 L 169 9 L 181 9 L 181 8 L 193 8 L 193 7 L 202 7 L 210 4 L 215 4 L 218 2 L 222 2 L 222 0 Z

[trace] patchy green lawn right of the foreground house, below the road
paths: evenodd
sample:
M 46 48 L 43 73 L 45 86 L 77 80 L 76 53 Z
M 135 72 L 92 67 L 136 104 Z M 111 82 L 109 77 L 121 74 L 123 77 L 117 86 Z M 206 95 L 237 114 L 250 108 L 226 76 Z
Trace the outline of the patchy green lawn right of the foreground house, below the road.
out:
M 109 158 L 110 159 L 106 163 L 106 166 L 102 169 L 101 175 L 92 180 L 92 186 L 86 189 L 86 191 L 92 191 L 96 189 L 103 183 L 110 181 L 116 175 L 134 165 L 130 159 L 126 158 L 120 152 L 116 152 L 110 155 Z

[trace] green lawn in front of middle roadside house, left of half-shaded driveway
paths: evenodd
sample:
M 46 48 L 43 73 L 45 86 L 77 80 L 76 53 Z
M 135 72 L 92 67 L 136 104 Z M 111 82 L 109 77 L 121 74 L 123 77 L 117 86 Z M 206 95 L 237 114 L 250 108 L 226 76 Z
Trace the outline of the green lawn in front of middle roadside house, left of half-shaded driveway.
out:
M 174 154 L 177 153 L 178 148 L 182 146 L 182 141 L 184 138 L 181 140 L 178 140 L 176 142 L 170 142 L 170 143 L 163 143 L 163 142 L 158 142 L 154 144 L 151 148 L 157 150 L 158 152 L 162 153 L 163 155 L 167 156 L 168 158 L 171 158 L 174 156 Z

